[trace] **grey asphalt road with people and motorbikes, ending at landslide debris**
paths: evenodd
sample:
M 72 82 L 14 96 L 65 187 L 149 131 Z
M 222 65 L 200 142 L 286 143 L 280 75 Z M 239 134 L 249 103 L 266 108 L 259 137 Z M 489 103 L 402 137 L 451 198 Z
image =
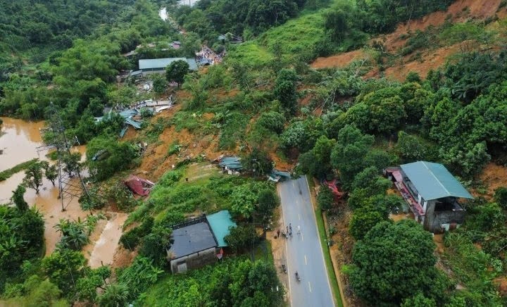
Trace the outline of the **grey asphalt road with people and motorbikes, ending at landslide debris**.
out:
M 281 182 L 278 191 L 284 227 L 292 224 L 292 238 L 287 239 L 286 246 L 290 304 L 292 307 L 334 306 L 306 177 Z M 297 234 L 298 226 L 300 234 Z M 296 280 L 296 271 L 300 282 Z

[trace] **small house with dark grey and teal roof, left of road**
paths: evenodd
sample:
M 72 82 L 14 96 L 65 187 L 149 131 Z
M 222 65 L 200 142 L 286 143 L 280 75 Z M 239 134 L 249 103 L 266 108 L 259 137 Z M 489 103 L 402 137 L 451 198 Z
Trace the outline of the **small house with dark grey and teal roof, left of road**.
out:
M 173 243 L 167 249 L 170 270 L 186 272 L 215 263 L 227 246 L 225 236 L 236 226 L 229 211 L 201 215 L 171 226 Z

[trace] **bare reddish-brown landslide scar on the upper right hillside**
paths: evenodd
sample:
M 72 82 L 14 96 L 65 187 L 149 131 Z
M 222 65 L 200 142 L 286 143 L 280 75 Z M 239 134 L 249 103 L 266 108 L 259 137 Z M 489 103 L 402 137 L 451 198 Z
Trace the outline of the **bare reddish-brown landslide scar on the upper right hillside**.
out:
M 370 72 L 366 77 L 385 76 L 403 81 L 411 71 L 426 77 L 429 70 L 441 68 L 454 54 L 499 48 L 499 40 L 491 39 L 486 44 L 475 44 L 475 39 L 480 39 L 480 32 L 488 31 L 503 37 L 506 17 L 507 8 L 500 0 L 454 1 L 446 11 L 437 11 L 423 18 L 400 23 L 394 32 L 370 39 L 369 48 L 320 57 L 311 63 L 311 67 L 344 68 L 353 61 L 365 59 L 370 63 Z M 470 24 L 477 25 L 480 29 L 458 28 Z M 456 27 L 456 32 L 446 33 L 446 37 L 442 37 L 442 32 L 450 25 Z M 450 32 L 449 29 L 447 31 Z M 376 56 L 382 60 L 375 59 L 372 52 L 368 51 L 372 48 L 380 53 Z M 382 68 L 375 61 L 382 61 Z

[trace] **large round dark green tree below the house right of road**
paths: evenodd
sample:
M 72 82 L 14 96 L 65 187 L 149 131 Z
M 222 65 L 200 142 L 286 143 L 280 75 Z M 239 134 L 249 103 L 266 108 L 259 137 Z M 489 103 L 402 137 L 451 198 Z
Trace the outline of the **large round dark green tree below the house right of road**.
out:
M 434 267 L 429 232 L 412 220 L 377 224 L 353 249 L 351 286 L 366 301 L 401 303 L 418 292 L 439 299 L 446 277 Z

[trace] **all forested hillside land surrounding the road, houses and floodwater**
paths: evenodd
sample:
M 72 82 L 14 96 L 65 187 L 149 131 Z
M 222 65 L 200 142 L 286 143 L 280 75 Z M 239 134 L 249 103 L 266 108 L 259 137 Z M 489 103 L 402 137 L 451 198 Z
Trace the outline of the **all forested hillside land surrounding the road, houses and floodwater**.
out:
M 49 120 L 57 111 L 87 144 L 87 161 L 65 156 L 64 171 L 86 168 L 91 195 L 80 199 L 89 218 L 51 226 L 61 241 L 43 257 L 44 216 L 23 195 L 38 193 L 51 168 L 20 166 L 23 184 L 0 207 L 2 299 L 283 306 L 289 284 L 273 237 L 284 225 L 265 180 L 276 168 L 315 186 L 338 306 L 506 306 L 506 4 L 0 0 L 0 115 Z M 129 73 L 139 59 L 170 57 L 201 67 Z M 170 106 L 139 108 L 139 129 L 123 130 L 117 111 L 146 101 Z M 241 175 L 215 170 L 210 161 L 223 155 L 242 158 Z M 474 196 L 458 229 L 424 230 L 383 177 L 415 161 L 442 163 Z M 132 174 L 156 182 L 149 197 L 124 187 Z M 237 223 L 225 260 L 171 274 L 170 227 L 221 210 Z M 117 212 L 129 215 L 115 261 L 91 268 L 82 248 L 99 213 Z

